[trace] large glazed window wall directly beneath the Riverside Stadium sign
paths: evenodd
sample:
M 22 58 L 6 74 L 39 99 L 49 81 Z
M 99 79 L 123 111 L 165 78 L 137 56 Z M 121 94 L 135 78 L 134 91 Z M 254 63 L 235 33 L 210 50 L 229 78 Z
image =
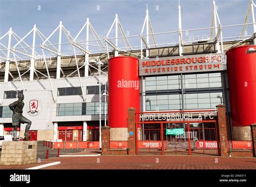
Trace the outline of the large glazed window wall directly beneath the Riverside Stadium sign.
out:
M 145 88 L 146 110 L 181 109 L 180 75 L 145 77 Z M 185 109 L 214 109 L 222 97 L 221 73 L 184 74 L 183 88 Z

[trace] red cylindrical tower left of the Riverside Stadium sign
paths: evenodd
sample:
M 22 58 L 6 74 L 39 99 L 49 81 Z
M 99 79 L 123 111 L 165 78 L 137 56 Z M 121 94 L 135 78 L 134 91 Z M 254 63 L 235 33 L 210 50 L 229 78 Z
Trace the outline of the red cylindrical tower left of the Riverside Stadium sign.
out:
M 117 56 L 109 59 L 109 100 L 107 124 L 112 127 L 127 127 L 127 109 L 139 111 L 139 66 L 138 59 Z

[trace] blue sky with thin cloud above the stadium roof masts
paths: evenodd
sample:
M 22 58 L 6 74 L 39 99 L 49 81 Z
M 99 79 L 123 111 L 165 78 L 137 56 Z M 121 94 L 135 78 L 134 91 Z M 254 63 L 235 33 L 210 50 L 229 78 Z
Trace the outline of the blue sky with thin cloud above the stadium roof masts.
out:
M 223 25 L 241 24 L 244 21 L 250 0 L 216 0 L 220 21 Z M 178 30 L 178 0 L 0 0 L 0 36 L 9 27 L 23 37 L 34 24 L 45 36 L 48 36 L 63 21 L 63 25 L 75 37 L 80 28 L 90 18 L 100 38 L 107 34 L 114 16 L 118 13 L 119 20 L 130 35 L 138 35 L 142 30 L 145 18 L 146 4 L 154 32 Z M 211 0 L 180 0 L 183 30 L 211 26 Z M 40 6 L 41 10 L 38 10 Z M 99 9 L 99 10 L 98 10 Z M 251 23 L 251 18 L 250 18 Z M 241 27 L 225 29 L 224 37 L 239 35 Z M 252 26 L 248 26 L 248 34 L 252 33 Z M 190 32 L 184 39 L 192 35 L 207 34 L 210 31 Z M 111 35 L 113 37 L 113 33 Z M 85 35 L 84 35 L 85 37 Z M 85 40 L 85 38 L 82 39 Z M 177 34 L 157 36 L 157 42 L 175 42 Z M 139 45 L 137 39 L 131 43 Z

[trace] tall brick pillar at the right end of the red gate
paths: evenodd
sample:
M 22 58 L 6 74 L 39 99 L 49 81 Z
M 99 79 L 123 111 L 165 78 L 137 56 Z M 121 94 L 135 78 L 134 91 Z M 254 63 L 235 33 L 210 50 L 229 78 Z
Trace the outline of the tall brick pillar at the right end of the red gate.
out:
M 225 105 L 217 105 L 218 112 L 218 138 L 220 141 L 220 156 L 228 156 L 228 139 Z

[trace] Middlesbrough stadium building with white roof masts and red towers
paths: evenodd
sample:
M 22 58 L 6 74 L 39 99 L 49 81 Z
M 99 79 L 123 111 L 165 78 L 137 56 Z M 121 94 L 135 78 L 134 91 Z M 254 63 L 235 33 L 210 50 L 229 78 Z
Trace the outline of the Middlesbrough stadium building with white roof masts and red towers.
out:
M 116 15 L 104 39 L 89 18 L 76 36 L 62 21 L 49 36 L 36 25 L 24 37 L 10 28 L 0 38 L 0 135 L 12 133 L 8 105 L 23 92 L 23 115 L 32 121 L 34 140 L 100 141 L 100 125 L 113 132 L 123 128 L 116 131 L 123 137 L 130 107 L 137 112 L 180 111 L 169 116 L 172 121 L 208 114 L 219 104 L 226 107 L 230 136 L 243 136 L 256 122 L 254 6 L 250 1 L 245 23 L 224 26 L 213 1 L 211 27 L 182 30 L 178 5 L 178 30 L 162 33 L 153 33 L 146 10 L 142 31 L 133 36 L 126 36 Z M 234 27 L 241 28 L 237 37 L 225 32 Z M 253 28 L 251 35 L 245 35 L 247 27 Z M 176 35 L 178 42 L 169 42 L 168 34 Z M 165 36 L 166 43 L 158 44 L 156 35 Z M 137 46 L 130 45 L 131 38 L 137 38 Z M 21 124 L 20 135 L 24 130 Z M 156 136 L 149 133 L 145 138 L 150 135 Z

